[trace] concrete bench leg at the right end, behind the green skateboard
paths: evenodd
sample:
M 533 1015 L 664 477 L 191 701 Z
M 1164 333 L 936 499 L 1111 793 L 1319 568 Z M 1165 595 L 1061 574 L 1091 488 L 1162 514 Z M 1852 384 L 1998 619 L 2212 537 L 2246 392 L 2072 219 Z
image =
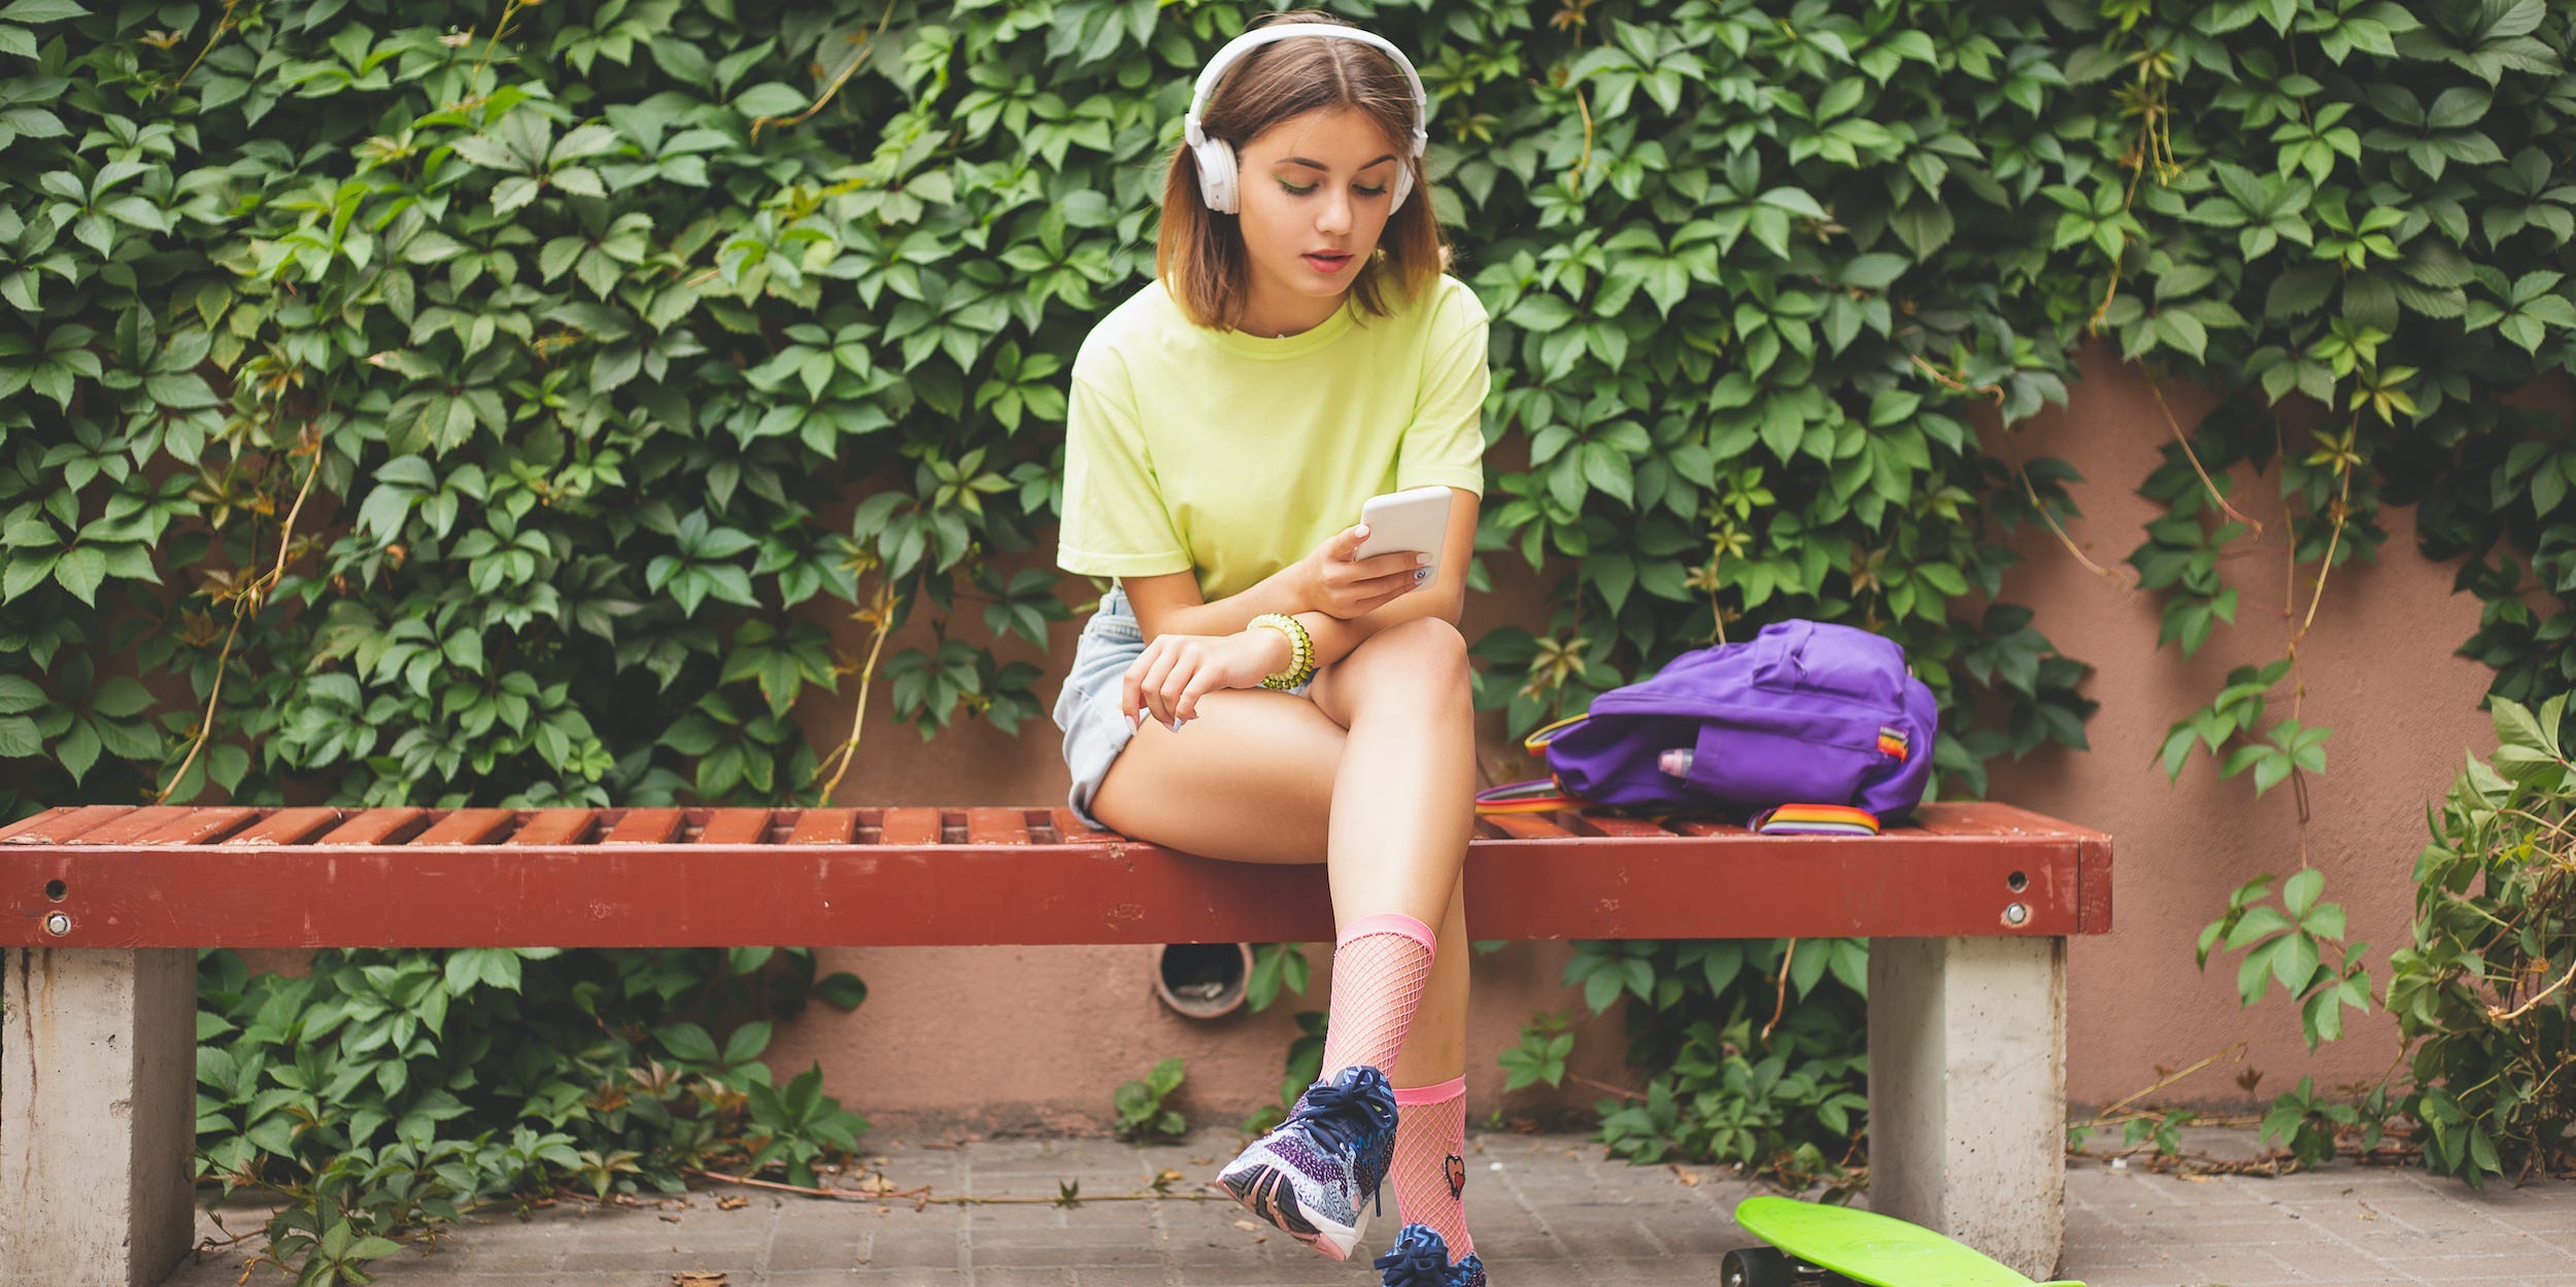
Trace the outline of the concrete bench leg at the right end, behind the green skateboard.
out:
M 2056 1274 L 2066 940 L 1870 942 L 1870 1210 Z

